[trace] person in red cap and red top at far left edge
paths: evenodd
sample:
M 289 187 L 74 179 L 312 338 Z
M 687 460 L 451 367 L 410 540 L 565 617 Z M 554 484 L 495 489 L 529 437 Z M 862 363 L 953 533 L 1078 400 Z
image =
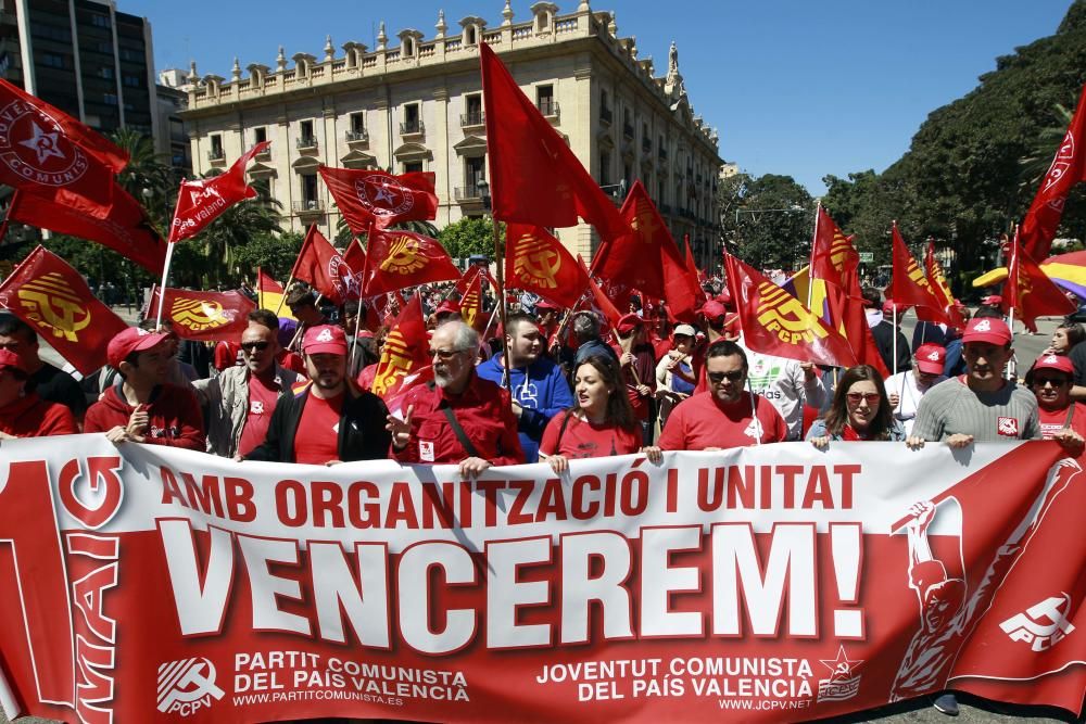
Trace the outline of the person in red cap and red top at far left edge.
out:
M 72 411 L 60 403 L 27 392 L 30 379 L 14 352 L 0 350 L 0 440 L 74 435 L 79 432 Z

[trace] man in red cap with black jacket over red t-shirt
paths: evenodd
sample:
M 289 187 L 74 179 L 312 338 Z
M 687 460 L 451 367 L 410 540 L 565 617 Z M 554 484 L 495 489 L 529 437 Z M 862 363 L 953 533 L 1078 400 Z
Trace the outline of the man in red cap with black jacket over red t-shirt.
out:
M 267 436 L 245 460 L 332 465 L 388 457 L 389 410 L 380 397 L 348 378 L 346 352 L 341 328 L 305 330 L 302 358 L 310 381 L 279 398 Z

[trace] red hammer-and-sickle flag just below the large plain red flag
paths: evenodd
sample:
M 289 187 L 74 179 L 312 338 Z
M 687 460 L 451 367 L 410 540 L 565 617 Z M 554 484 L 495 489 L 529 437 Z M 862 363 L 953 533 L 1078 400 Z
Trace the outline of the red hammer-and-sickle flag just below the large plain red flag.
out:
M 563 307 L 571 307 L 589 285 L 589 275 L 546 229 L 527 224 L 505 228 L 505 278 Z

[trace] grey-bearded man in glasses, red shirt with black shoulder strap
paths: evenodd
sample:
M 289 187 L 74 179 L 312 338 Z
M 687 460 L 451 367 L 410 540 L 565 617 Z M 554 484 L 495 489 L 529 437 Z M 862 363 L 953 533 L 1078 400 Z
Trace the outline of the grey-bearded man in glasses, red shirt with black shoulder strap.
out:
M 491 466 L 525 461 L 513 399 L 476 373 L 478 350 L 479 333 L 462 320 L 434 330 L 433 384 L 407 393 L 403 419 L 388 417 L 397 460 L 458 465 L 464 478 L 475 478 Z

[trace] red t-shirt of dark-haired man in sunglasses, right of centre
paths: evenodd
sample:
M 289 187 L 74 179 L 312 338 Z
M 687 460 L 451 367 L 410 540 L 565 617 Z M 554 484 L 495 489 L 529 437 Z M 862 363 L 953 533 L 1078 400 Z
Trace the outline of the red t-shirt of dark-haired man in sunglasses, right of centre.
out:
M 753 424 L 752 396 L 759 425 Z M 756 439 L 762 443 L 779 443 L 787 436 L 784 418 L 761 395 L 743 393 L 738 402 L 723 405 L 711 392 L 703 392 L 687 397 L 671 411 L 660 433 L 659 446 L 666 450 L 727 449 L 753 445 Z

